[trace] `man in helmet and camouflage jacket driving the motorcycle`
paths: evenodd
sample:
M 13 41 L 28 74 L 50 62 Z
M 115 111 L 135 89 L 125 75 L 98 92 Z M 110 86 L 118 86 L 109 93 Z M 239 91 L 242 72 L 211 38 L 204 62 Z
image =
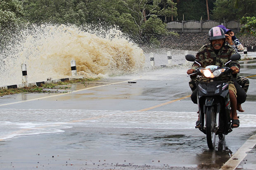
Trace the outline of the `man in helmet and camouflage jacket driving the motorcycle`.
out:
M 219 67 L 224 67 L 225 63 L 230 60 L 232 54 L 235 54 L 234 49 L 225 45 L 225 33 L 220 27 L 213 27 L 209 31 L 209 40 L 210 43 L 208 45 L 204 45 L 201 47 L 199 52 L 196 55 L 196 61 L 201 64 L 200 67 L 206 67 L 209 65 L 216 65 Z M 199 64 L 194 62 L 192 68 L 187 70 L 187 74 L 192 74 L 195 72 L 197 68 L 199 68 Z M 231 61 L 228 66 L 232 70 L 232 74 L 237 74 L 240 69 L 240 65 L 238 61 Z M 203 77 L 197 77 L 194 79 L 196 82 L 205 81 Z M 236 93 L 237 90 L 235 88 L 234 82 L 231 80 L 231 77 L 227 78 L 227 82 L 229 83 L 229 93 L 230 93 L 230 102 L 231 102 L 231 112 L 230 117 L 232 117 L 232 127 L 239 127 L 239 119 L 237 118 L 237 99 Z M 196 101 L 196 93 L 197 90 L 191 95 L 191 99 L 194 103 Z M 199 120 L 197 120 L 197 125 L 199 124 Z

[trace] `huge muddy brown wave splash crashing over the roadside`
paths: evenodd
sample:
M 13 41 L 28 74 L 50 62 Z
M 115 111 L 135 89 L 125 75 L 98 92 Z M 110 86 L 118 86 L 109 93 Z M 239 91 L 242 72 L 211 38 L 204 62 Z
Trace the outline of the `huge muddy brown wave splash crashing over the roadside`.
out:
M 117 29 L 92 33 L 45 24 L 24 29 L 18 37 L 0 54 L 0 86 L 21 83 L 22 63 L 27 66 L 28 83 L 70 77 L 72 59 L 78 75 L 86 78 L 135 72 L 145 64 L 143 50 Z

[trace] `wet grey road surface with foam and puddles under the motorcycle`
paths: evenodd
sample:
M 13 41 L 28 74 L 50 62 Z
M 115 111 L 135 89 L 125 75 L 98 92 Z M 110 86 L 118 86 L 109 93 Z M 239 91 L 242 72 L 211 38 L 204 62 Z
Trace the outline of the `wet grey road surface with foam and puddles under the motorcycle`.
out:
M 241 65 L 243 76 L 255 75 L 255 65 Z M 186 70 L 1 97 L 0 169 L 219 169 L 256 134 L 256 80 L 250 78 L 240 127 L 209 151 L 194 129 L 197 105 L 188 98 Z M 238 168 L 256 169 L 255 155 L 254 146 Z

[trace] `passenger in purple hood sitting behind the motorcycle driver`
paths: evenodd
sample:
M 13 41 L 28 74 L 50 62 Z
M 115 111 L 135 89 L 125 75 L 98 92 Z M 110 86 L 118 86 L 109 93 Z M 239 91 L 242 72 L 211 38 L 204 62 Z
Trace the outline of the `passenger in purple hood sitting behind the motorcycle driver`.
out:
M 239 42 L 239 40 L 236 38 L 235 33 L 230 30 L 227 29 L 225 26 L 223 25 L 218 25 L 218 27 L 222 28 L 225 35 L 226 35 L 226 44 L 229 44 L 233 47 L 233 49 L 235 50 L 235 52 L 238 54 L 238 52 L 243 51 L 244 47 L 243 45 Z M 234 44 L 234 43 L 235 44 Z M 245 102 L 246 97 L 247 97 L 247 91 L 249 88 L 249 80 L 248 78 L 244 78 L 242 76 L 237 75 L 235 78 L 235 81 L 238 83 L 238 85 L 242 86 L 242 89 L 244 90 L 245 94 L 243 91 L 240 91 L 240 88 L 237 87 L 237 83 L 235 83 L 235 87 L 237 88 L 237 110 L 240 112 L 244 112 L 244 110 L 242 109 L 241 104 Z

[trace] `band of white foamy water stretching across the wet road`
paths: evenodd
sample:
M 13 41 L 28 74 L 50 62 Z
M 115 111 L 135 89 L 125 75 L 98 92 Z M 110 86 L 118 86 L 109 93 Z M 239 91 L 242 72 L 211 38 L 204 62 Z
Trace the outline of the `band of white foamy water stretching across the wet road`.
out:
M 144 129 L 190 129 L 195 112 L 99 111 L 80 109 L 0 109 L 0 140 L 64 132 L 74 126 Z M 239 113 L 240 127 L 256 127 L 256 115 Z

